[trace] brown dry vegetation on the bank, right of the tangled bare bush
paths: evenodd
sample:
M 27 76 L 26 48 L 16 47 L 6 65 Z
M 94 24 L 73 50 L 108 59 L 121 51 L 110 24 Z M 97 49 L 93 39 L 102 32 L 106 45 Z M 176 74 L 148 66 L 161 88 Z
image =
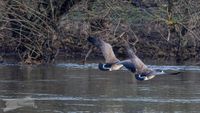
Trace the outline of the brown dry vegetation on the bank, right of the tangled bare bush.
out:
M 60 27 L 69 34 L 65 35 L 67 40 L 79 37 L 83 42 L 80 47 L 88 48 L 84 41 L 88 35 L 102 37 L 114 45 L 119 56 L 125 54 L 121 40 L 126 33 L 137 42 L 134 45 L 140 57 L 173 58 L 177 62 L 199 59 L 198 1 L 143 0 L 140 4 L 81 1 L 62 17 Z

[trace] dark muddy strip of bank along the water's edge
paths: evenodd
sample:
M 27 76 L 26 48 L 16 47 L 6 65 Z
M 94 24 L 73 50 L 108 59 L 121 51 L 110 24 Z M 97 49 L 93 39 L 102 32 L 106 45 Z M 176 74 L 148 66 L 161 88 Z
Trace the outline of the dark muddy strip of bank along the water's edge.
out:
M 18 57 L 17 53 L 3 53 L 0 52 L 1 56 L 0 56 L 0 64 L 25 64 L 23 62 L 21 62 L 21 59 Z M 104 58 L 102 56 L 102 54 L 97 53 L 96 51 L 93 51 L 89 57 L 87 58 L 86 62 L 84 62 L 84 58 L 85 58 L 86 53 L 73 53 L 73 55 L 68 55 L 66 52 L 61 52 L 58 54 L 58 56 L 55 58 L 54 62 L 52 62 L 51 64 L 54 63 L 77 63 L 77 64 L 84 64 L 84 63 L 99 63 L 99 62 L 104 62 Z M 123 59 L 127 59 L 128 57 L 126 55 L 117 55 L 117 57 L 120 60 Z M 164 64 L 164 65 L 196 65 L 196 66 L 200 66 L 200 59 L 196 59 L 196 58 L 191 58 L 185 61 L 181 61 L 181 62 L 177 62 L 177 59 L 174 57 L 168 57 L 168 58 L 155 58 L 155 57 L 148 57 L 148 56 L 141 56 L 141 54 L 139 55 L 139 57 L 147 64 L 151 64 L 151 65 L 160 65 L 160 64 Z M 31 65 L 40 65 L 41 63 L 35 63 L 35 64 L 31 64 Z M 46 63 L 44 63 L 46 64 Z

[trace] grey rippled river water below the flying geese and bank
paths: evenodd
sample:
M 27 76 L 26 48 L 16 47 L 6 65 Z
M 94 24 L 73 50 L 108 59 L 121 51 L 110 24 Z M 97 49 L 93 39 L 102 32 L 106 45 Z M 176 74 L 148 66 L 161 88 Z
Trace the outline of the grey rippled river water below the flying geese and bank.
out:
M 0 113 L 198 113 L 200 67 L 157 66 L 180 75 L 136 81 L 97 64 L 0 65 Z

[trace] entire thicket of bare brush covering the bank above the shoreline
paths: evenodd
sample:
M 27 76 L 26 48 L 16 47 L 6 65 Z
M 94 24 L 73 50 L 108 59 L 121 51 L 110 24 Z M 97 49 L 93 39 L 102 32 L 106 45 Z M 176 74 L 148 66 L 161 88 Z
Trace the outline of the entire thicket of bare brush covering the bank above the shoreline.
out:
M 110 42 L 118 56 L 129 38 L 140 57 L 198 59 L 199 9 L 198 0 L 4 0 L 0 50 L 24 63 L 51 63 L 60 51 L 84 56 L 90 35 Z

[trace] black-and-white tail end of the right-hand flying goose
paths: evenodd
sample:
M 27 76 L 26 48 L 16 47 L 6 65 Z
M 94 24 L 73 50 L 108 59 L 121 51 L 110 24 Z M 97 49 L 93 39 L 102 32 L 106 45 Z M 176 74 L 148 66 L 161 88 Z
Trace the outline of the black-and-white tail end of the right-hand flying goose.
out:
M 139 73 L 139 74 L 135 74 L 135 78 L 139 81 L 144 81 L 144 80 L 150 80 L 152 78 L 154 78 L 155 75 L 152 73 Z

